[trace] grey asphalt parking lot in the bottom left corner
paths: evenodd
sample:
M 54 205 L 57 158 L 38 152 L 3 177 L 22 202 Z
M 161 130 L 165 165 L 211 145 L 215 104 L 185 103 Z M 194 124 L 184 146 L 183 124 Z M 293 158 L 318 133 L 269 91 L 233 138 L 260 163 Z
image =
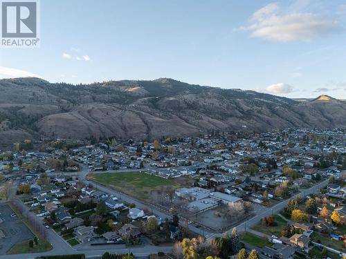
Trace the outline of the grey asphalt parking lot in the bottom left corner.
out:
M 0 204 L 0 213 L 0 255 L 6 254 L 14 244 L 34 238 L 24 222 L 17 216 L 11 217 L 14 211 L 8 205 Z

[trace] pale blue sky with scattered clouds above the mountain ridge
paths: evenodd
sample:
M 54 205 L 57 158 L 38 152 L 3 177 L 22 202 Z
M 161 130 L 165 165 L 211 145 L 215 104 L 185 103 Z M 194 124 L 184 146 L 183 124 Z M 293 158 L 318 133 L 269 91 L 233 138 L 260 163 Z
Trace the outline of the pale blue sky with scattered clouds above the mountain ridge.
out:
M 41 0 L 39 48 L 0 48 L 0 78 L 170 77 L 346 99 L 345 0 Z

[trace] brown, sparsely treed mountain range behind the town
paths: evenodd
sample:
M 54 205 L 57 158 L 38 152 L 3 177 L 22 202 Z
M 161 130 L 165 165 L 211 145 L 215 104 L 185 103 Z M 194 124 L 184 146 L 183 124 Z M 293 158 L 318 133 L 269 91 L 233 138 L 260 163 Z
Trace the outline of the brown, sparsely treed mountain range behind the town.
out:
M 73 85 L 25 77 L 1 79 L 0 90 L 2 146 L 39 137 L 145 139 L 346 126 L 346 102 L 327 95 L 301 101 L 168 78 Z

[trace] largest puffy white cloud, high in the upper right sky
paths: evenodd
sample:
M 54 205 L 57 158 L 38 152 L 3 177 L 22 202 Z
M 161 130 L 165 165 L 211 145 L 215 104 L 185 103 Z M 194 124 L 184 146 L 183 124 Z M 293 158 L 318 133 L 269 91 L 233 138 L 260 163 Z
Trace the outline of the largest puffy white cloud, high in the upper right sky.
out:
M 307 4 L 298 3 L 300 8 Z M 314 39 L 338 28 L 336 21 L 322 15 L 298 11 L 280 15 L 278 10 L 276 3 L 270 3 L 251 15 L 248 26 L 236 30 L 251 31 L 251 37 L 286 42 Z

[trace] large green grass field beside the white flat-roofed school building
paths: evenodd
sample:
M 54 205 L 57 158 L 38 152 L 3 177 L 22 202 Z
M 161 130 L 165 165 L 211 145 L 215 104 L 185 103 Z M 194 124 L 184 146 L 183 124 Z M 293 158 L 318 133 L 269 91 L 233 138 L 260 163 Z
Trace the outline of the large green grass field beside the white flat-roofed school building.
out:
M 160 189 L 165 186 L 172 186 L 173 189 L 176 189 L 181 186 L 174 180 L 138 172 L 95 173 L 89 175 L 89 179 L 144 200 L 148 200 L 149 193 L 155 189 Z

